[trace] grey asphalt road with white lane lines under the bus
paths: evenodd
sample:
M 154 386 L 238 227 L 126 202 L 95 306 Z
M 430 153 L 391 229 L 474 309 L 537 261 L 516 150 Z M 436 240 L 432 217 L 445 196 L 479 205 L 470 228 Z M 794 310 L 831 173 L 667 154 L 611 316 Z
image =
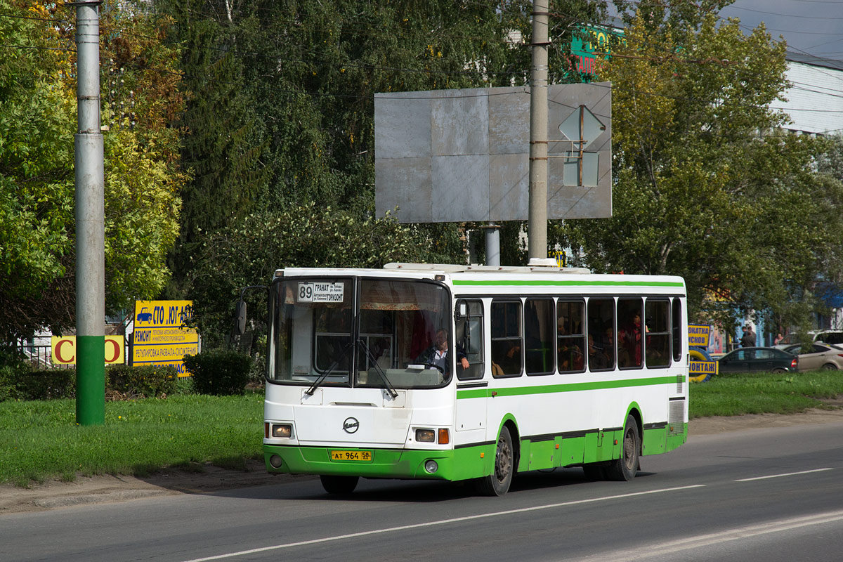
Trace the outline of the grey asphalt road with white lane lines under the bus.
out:
M 843 423 L 692 436 L 629 483 L 527 474 L 458 484 L 319 480 L 0 517 L 12 560 L 840 559 Z

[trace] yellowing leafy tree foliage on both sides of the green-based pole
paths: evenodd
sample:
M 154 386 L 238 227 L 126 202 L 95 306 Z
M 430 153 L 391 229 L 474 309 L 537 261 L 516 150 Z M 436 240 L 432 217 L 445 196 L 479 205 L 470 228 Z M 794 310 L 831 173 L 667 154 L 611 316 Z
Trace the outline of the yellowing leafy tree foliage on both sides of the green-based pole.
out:
M 75 322 L 76 61 L 61 3 L 0 0 L 0 9 L 0 335 L 14 339 Z M 105 297 L 114 313 L 153 297 L 167 276 L 183 176 L 165 114 L 180 101 L 177 75 L 161 72 L 175 59 L 154 22 L 105 4 L 100 27 L 103 58 L 125 69 L 122 110 L 112 120 L 115 109 L 103 108 Z

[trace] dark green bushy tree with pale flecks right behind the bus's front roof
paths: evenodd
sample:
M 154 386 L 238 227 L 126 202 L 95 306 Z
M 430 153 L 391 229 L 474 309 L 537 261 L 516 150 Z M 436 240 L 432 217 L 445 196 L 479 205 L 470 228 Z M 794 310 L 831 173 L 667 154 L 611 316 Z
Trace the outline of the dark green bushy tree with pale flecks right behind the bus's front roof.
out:
M 437 252 L 438 249 L 438 252 Z M 240 289 L 269 283 L 284 267 L 374 267 L 391 261 L 445 261 L 447 245 L 394 217 L 361 218 L 314 202 L 283 211 L 256 211 L 237 226 L 209 235 L 196 249 L 190 284 L 194 318 L 207 345 L 218 345 L 232 326 Z M 266 298 L 251 298 L 257 312 Z

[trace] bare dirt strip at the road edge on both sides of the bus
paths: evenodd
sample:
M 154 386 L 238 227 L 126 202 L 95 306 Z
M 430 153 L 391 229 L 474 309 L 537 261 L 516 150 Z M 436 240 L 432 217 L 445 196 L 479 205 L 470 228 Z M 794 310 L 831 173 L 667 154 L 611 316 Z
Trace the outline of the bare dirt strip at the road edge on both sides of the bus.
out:
M 764 427 L 843 422 L 843 397 L 826 402 L 833 409 L 809 409 L 801 414 L 753 414 L 731 417 L 714 416 L 690 420 L 689 433 L 710 435 L 722 431 L 740 431 Z M 134 500 L 155 495 L 203 494 L 247 486 L 277 484 L 313 476 L 267 474 L 264 463 L 250 461 L 246 470 L 229 470 L 211 465 L 199 471 L 168 469 L 147 478 L 134 476 L 79 476 L 74 482 L 51 480 L 18 488 L 0 485 L 0 517 L 7 513 L 44 511 L 67 506 Z

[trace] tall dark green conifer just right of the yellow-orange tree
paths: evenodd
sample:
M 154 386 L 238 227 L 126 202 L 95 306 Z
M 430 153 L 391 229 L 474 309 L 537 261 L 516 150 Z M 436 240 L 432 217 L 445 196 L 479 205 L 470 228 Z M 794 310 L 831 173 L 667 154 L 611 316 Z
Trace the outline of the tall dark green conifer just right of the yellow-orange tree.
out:
M 263 126 L 255 115 L 255 99 L 244 83 L 244 56 L 239 49 L 239 22 L 234 2 L 156 3 L 171 18 L 168 40 L 182 45 L 180 91 L 185 110 L 176 125 L 181 131 L 180 158 L 191 179 L 181 190 L 180 234 L 169 257 L 174 277 L 169 297 L 185 297 L 191 256 L 207 233 L 248 215 L 266 196 L 268 168 L 261 160 Z

